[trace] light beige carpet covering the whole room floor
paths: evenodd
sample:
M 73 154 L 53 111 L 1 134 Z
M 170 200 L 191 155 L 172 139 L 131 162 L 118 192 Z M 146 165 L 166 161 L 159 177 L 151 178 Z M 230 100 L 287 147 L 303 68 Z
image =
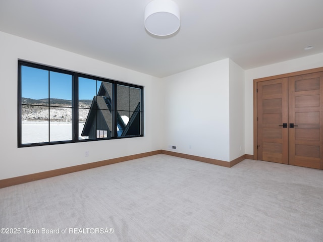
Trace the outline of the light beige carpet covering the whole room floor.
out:
M 20 231 L 0 241 L 321 242 L 323 171 L 160 154 L 0 189 L 0 228 Z

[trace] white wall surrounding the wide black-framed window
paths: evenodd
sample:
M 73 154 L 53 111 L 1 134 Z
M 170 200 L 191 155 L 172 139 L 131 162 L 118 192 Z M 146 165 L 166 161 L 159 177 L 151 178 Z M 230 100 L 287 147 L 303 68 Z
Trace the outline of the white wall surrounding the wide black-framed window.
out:
M 158 78 L 110 65 L 0 32 L 0 179 L 105 159 L 159 150 L 163 135 Z M 145 136 L 131 139 L 17 148 L 17 61 L 25 59 L 53 67 L 144 86 Z M 89 151 L 89 157 L 84 152 Z

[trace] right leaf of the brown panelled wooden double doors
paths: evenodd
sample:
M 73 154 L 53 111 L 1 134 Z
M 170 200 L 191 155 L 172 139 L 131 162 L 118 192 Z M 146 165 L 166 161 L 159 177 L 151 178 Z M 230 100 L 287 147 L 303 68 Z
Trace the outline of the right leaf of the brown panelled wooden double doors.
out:
M 323 169 L 322 89 L 323 72 L 288 78 L 289 164 Z

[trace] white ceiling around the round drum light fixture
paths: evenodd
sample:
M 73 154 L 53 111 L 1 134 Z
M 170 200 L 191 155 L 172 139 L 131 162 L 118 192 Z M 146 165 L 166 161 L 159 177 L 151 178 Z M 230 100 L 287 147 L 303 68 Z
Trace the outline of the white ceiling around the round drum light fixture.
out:
M 174 0 L 181 27 L 169 37 L 145 30 L 150 1 L 0 0 L 0 31 L 156 77 L 228 57 L 247 70 L 323 52 L 323 0 Z

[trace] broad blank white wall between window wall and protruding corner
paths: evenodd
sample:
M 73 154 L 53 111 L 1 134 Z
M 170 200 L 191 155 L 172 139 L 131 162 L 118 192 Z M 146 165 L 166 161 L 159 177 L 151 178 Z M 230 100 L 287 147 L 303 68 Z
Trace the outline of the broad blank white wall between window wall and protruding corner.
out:
M 166 127 L 162 149 L 230 161 L 229 59 L 161 81 Z

